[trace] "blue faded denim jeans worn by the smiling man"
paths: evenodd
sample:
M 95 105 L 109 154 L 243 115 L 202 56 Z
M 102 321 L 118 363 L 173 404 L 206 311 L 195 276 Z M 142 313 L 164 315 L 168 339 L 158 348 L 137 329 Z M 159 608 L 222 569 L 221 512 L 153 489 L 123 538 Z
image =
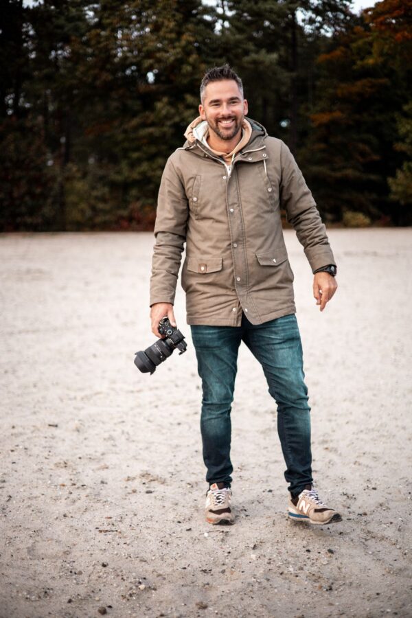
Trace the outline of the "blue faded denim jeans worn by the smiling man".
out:
M 230 485 L 231 403 L 238 349 L 246 343 L 262 365 L 269 393 L 277 403 L 277 431 L 286 462 L 288 490 L 296 496 L 312 483 L 310 407 L 304 382 L 302 346 L 295 314 L 253 325 L 192 325 L 192 340 L 202 379 L 201 434 L 209 483 Z

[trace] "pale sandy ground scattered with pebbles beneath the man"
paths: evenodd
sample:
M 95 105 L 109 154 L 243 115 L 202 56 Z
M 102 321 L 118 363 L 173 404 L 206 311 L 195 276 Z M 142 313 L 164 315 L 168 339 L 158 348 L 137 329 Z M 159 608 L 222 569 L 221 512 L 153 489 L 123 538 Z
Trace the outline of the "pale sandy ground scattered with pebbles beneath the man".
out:
M 212 527 L 180 289 L 187 353 L 153 376 L 133 365 L 155 340 L 152 235 L 0 236 L 1 618 L 412 615 L 412 229 L 330 240 L 339 290 L 321 314 L 286 232 L 314 474 L 343 522 L 287 520 L 275 405 L 241 347 L 238 515 Z

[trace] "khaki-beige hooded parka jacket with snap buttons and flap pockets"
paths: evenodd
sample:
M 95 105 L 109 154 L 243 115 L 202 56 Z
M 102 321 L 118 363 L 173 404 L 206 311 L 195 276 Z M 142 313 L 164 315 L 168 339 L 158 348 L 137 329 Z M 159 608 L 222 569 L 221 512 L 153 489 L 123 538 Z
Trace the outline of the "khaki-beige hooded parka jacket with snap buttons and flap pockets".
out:
M 175 150 L 163 171 L 150 306 L 174 303 L 186 243 L 181 284 L 188 324 L 240 326 L 242 312 L 260 324 L 295 312 L 281 209 L 312 271 L 336 264 L 288 146 L 247 120 L 251 138 L 231 166 L 196 139 Z

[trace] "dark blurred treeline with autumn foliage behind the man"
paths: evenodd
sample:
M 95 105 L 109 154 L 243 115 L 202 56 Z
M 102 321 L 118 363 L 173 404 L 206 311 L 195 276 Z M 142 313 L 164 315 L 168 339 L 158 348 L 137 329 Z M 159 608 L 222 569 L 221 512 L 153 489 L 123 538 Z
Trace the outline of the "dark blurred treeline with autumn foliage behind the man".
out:
M 0 229 L 150 229 L 229 62 L 326 222 L 412 224 L 412 0 L 1 0 Z

